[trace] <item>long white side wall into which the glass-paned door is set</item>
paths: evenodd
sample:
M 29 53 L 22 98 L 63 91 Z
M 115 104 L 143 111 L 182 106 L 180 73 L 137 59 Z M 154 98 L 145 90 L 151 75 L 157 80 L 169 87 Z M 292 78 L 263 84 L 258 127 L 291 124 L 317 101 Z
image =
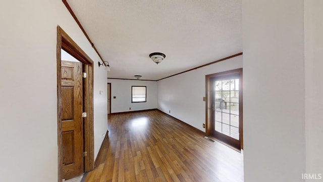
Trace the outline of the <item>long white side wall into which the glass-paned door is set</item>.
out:
M 158 109 L 205 132 L 205 75 L 241 67 L 238 56 L 157 81 Z

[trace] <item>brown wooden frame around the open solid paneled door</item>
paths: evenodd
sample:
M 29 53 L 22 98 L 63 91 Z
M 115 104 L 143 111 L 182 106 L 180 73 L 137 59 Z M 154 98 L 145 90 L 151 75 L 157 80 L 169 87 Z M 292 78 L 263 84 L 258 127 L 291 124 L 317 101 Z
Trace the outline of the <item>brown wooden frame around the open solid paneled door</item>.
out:
M 57 132 L 58 132 L 58 181 L 63 179 L 63 147 L 62 147 L 62 65 L 61 49 L 75 57 L 84 64 L 87 78 L 84 79 L 84 110 L 87 117 L 84 118 L 84 172 L 94 169 L 94 130 L 93 130 L 93 61 L 73 41 L 73 39 L 60 27 L 57 26 Z

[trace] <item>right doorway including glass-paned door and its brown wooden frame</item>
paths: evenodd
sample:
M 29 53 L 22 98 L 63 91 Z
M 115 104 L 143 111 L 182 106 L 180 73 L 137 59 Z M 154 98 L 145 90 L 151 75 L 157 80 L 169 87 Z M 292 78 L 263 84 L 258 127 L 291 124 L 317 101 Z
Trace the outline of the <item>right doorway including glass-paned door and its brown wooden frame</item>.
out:
M 206 135 L 243 149 L 242 68 L 205 76 Z

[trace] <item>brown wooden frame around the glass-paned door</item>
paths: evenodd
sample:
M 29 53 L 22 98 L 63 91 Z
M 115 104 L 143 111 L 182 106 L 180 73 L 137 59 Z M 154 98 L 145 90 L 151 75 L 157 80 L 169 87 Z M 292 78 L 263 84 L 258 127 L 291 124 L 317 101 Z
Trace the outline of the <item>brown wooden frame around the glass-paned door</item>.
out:
M 211 124 L 211 119 L 212 119 L 212 108 L 211 108 L 211 78 L 216 77 L 216 76 L 226 76 L 226 75 L 232 75 L 235 73 L 240 73 L 240 80 L 241 85 L 243 85 L 243 72 L 242 68 L 234 69 L 234 70 L 229 70 L 229 71 L 224 71 L 220 73 L 214 73 L 214 74 L 209 74 L 205 75 L 205 135 L 206 136 L 211 136 L 212 133 L 212 124 Z M 242 88 L 240 88 L 243 90 Z M 239 138 L 240 138 L 240 148 L 243 149 L 243 92 L 241 92 L 241 95 L 239 95 L 239 110 L 241 109 L 241 113 L 239 113 Z M 241 120 L 240 120 L 241 118 Z M 240 150 L 240 149 L 239 149 Z

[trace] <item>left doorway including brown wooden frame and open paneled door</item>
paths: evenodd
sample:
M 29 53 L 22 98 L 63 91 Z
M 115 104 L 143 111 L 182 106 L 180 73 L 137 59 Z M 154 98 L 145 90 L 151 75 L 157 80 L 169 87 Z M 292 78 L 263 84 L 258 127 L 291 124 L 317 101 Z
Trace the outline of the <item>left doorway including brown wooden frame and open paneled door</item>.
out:
M 78 62 L 62 61 L 62 50 Z M 57 27 L 57 124 L 58 181 L 93 170 L 93 61 L 60 26 Z

